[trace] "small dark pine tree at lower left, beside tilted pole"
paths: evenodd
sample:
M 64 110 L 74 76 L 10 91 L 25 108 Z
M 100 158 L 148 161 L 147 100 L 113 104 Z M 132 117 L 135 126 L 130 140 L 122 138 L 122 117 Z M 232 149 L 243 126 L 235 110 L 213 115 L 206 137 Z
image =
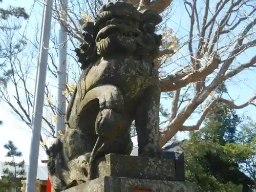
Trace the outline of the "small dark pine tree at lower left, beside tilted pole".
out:
M 14 145 L 12 141 L 8 141 L 4 148 L 7 150 L 6 157 L 11 158 L 9 161 L 5 161 L 6 168 L 3 168 L 3 173 L 5 176 L 11 179 L 24 178 L 25 177 L 25 161 L 17 161 L 17 158 L 21 158 L 22 152 L 18 151 L 18 148 Z M 15 191 L 20 191 L 20 185 L 12 182 L 12 188 Z

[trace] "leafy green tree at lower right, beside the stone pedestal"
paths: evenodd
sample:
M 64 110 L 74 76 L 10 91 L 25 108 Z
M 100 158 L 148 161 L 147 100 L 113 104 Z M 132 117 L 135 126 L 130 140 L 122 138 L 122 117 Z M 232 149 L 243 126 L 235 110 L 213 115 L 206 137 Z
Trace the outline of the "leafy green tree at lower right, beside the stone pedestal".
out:
M 241 118 L 227 104 L 218 104 L 204 122 L 205 126 L 184 142 L 187 179 L 196 182 L 197 191 L 202 192 L 252 191 L 255 175 L 243 165 L 256 157 L 256 148 L 245 139 L 248 135 L 243 135 L 243 140 L 239 136 Z

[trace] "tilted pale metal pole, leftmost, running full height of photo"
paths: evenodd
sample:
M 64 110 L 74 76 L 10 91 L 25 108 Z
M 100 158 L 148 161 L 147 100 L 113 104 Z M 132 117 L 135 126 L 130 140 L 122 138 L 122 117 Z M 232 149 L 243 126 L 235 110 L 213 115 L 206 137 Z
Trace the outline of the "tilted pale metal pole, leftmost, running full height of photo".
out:
M 29 154 L 29 167 L 27 172 L 26 192 L 35 191 L 37 167 L 38 167 L 38 156 L 39 156 L 39 144 L 41 134 L 41 119 L 42 109 L 44 106 L 45 99 L 45 85 L 46 85 L 46 71 L 48 61 L 48 48 L 51 35 L 51 20 L 52 20 L 52 0 L 45 2 L 46 6 L 43 14 L 42 24 L 42 36 L 39 54 L 39 66 L 38 66 L 38 77 L 35 94 L 35 113 L 33 115 L 32 123 L 32 137 L 30 143 L 30 154 Z

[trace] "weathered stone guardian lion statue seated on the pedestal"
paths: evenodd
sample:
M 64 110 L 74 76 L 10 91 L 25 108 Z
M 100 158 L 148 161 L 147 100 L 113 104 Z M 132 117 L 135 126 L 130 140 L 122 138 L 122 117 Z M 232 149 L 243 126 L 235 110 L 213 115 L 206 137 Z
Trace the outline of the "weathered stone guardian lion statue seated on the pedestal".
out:
M 66 113 L 66 131 L 47 151 L 52 187 L 61 191 L 95 178 L 95 160 L 130 155 L 135 120 L 139 156 L 159 157 L 159 78 L 154 65 L 162 18 L 131 4 L 104 5 L 83 24 L 76 53 L 83 70 Z M 96 165 L 97 166 L 97 165 Z

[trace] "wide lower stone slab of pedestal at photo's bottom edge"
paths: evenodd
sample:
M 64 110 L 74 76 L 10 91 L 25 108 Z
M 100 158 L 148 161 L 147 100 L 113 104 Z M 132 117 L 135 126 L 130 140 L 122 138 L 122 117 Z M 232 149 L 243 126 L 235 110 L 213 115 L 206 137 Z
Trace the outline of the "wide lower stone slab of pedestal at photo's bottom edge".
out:
M 136 190 L 137 189 L 137 190 Z M 194 192 L 193 184 L 180 181 L 100 177 L 88 183 L 64 190 L 65 192 Z

